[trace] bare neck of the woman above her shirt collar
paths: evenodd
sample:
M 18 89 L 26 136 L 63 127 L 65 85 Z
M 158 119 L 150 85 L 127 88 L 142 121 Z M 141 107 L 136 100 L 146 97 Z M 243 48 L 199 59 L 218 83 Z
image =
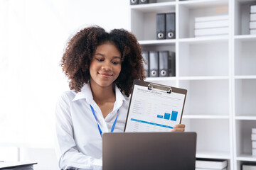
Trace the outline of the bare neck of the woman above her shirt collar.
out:
M 114 103 L 115 93 L 112 85 L 102 87 L 95 84 L 94 81 L 90 81 L 90 88 L 92 90 L 93 100 L 97 103 L 98 106 L 109 102 Z

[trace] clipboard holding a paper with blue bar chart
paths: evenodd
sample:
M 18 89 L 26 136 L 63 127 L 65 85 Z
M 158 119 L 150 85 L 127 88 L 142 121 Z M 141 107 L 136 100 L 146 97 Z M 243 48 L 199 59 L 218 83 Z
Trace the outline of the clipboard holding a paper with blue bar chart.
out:
M 180 124 L 186 89 L 134 80 L 124 132 L 170 132 Z

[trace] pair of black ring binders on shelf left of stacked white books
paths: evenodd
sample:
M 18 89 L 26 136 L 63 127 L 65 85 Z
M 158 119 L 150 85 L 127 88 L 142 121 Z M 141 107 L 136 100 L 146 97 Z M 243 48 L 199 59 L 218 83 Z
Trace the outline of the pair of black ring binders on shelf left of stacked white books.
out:
M 175 13 L 156 13 L 156 40 L 175 39 Z

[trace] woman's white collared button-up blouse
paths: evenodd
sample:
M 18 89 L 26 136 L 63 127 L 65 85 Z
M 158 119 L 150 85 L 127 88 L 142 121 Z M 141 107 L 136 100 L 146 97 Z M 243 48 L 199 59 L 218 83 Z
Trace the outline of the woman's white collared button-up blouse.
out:
M 90 84 L 81 91 L 66 91 L 58 99 L 56 115 L 56 152 L 60 169 L 102 169 L 102 137 L 90 105 L 95 110 L 98 124 L 110 132 L 115 118 L 114 132 L 124 132 L 129 98 L 115 86 L 116 101 L 111 113 L 104 119 L 92 98 Z

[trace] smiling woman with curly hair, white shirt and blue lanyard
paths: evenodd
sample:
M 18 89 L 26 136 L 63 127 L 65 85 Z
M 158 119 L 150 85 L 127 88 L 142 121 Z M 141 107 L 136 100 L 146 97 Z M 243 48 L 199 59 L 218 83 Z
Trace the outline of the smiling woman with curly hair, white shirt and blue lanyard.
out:
M 70 91 L 56 107 L 58 164 L 102 169 L 102 133 L 124 131 L 133 81 L 145 79 L 141 47 L 127 30 L 89 27 L 68 41 L 60 65 Z

